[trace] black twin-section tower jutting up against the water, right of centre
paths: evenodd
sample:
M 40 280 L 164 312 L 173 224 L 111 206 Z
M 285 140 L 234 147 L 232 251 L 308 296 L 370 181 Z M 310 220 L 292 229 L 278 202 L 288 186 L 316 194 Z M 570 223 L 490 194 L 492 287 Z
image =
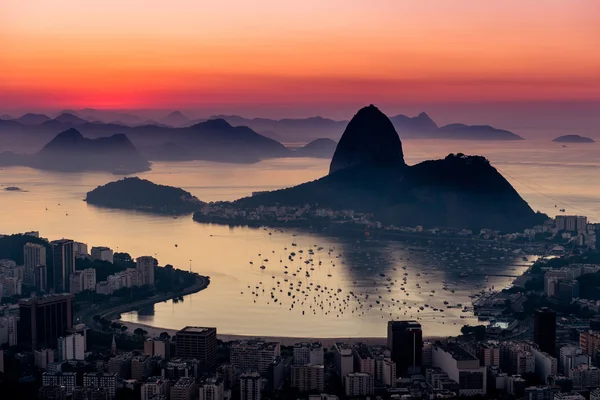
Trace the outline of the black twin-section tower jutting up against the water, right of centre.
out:
M 419 374 L 423 359 L 423 331 L 417 321 L 389 321 L 388 347 L 397 376 Z

